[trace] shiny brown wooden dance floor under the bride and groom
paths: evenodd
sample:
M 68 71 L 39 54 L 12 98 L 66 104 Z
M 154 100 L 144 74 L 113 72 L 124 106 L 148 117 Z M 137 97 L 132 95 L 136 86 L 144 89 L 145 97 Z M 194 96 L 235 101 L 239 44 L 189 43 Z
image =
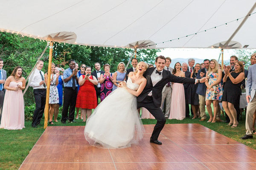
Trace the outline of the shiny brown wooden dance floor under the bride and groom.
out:
M 84 126 L 47 127 L 20 170 L 255 170 L 256 150 L 199 124 L 169 124 L 149 143 L 99 149 L 84 139 Z

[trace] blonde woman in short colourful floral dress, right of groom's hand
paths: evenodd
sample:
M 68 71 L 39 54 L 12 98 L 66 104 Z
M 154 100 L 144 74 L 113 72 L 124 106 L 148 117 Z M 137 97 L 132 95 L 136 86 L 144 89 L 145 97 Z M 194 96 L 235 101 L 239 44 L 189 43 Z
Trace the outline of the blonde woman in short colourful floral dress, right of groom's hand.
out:
M 222 71 L 218 69 L 218 62 L 216 59 L 210 60 L 210 67 L 206 75 L 209 77 L 209 80 L 206 79 L 205 82 L 205 85 L 207 86 L 205 101 L 210 116 L 210 119 L 207 122 L 215 123 L 218 113 L 218 102 L 221 101 L 223 93 L 223 88 L 221 86 Z M 213 103 L 213 117 L 211 103 Z

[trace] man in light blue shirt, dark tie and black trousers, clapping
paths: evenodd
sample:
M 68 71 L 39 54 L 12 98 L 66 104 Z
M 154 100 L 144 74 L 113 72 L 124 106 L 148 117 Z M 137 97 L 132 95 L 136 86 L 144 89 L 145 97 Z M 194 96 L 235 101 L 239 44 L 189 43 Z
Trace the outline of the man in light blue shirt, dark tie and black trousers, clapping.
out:
M 78 85 L 78 72 L 76 67 L 76 61 L 70 59 L 68 62 L 69 68 L 63 72 L 64 79 L 64 101 L 62 108 L 61 123 L 68 122 L 73 123 L 76 109 L 76 96 L 77 96 L 77 85 Z M 69 114 L 68 114 L 69 111 Z

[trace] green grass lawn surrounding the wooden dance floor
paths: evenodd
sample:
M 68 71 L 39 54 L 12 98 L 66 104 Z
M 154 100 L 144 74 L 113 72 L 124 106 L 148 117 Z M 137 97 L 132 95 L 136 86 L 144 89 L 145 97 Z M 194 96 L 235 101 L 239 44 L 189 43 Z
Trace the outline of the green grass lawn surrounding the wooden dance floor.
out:
M 208 115 L 207 115 L 208 116 Z M 209 119 L 209 117 L 207 117 Z M 221 115 L 221 119 L 224 117 Z M 182 123 L 198 123 L 209 129 L 212 129 L 224 136 L 241 142 L 253 149 L 256 149 L 254 139 L 242 140 L 241 136 L 245 134 L 245 115 L 243 112 L 243 118 L 239 121 L 239 125 L 236 128 L 226 126 L 225 122 L 207 123 L 207 121 L 199 122 L 200 119 L 184 119 L 184 120 L 167 120 L 166 124 L 182 124 Z M 54 125 L 49 126 L 84 126 L 85 123 L 81 119 L 76 119 L 76 123 L 62 124 L 54 122 Z M 143 124 L 155 124 L 154 119 L 142 119 Z M 5 130 L 0 129 L 0 170 L 17 170 L 20 164 L 29 154 L 34 144 L 37 142 L 41 134 L 44 132 L 43 124 L 37 128 L 31 127 L 30 121 L 25 121 L 25 127 L 22 130 Z

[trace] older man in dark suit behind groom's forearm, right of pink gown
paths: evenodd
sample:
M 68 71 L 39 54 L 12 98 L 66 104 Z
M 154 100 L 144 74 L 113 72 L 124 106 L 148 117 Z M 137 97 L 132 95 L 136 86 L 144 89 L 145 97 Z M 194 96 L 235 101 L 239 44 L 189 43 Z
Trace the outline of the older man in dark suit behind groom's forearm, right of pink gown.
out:
M 188 71 L 188 65 L 186 62 L 182 63 L 182 71 L 185 73 L 185 77 L 190 78 L 191 77 L 191 73 L 190 71 Z M 183 83 L 184 86 L 184 94 L 185 94 L 185 106 L 186 106 L 186 117 L 190 117 L 189 116 L 189 100 L 188 100 L 188 87 L 189 87 L 189 83 Z

